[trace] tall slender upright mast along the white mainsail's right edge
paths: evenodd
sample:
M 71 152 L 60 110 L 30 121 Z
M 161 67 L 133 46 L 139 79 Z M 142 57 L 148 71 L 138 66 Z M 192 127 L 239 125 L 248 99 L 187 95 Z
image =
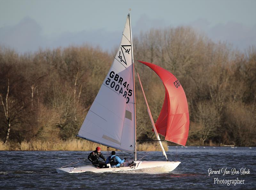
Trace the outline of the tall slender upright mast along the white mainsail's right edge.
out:
M 130 11 L 130 9 L 129 9 Z M 130 13 L 129 16 L 129 22 L 130 22 L 130 36 L 131 36 L 131 49 L 132 49 L 132 78 L 133 78 L 133 99 L 134 99 L 134 161 L 137 160 L 137 149 L 136 149 L 136 103 L 135 103 L 135 80 L 134 80 L 134 61 L 133 61 L 133 46 L 132 46 L 132 28 L 131 28 L 131 17 Z

